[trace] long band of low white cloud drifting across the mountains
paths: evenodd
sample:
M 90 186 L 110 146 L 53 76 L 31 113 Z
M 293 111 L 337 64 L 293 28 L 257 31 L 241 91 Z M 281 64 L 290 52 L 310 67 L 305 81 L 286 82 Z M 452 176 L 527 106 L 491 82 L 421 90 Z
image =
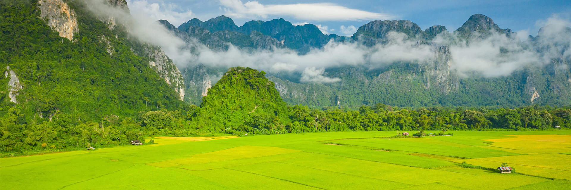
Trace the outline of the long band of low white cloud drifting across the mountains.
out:
M 323 76 L 325 68 L 364 66 L 380 68 L 395 62 L 433 64 L 435 48 L 448 46 L 452 62 L 450 69 L 469 76 L 506 76 L 530 65 L 550 64 L 553 58 L 570 59 L 571 36 L 566 33 L 569 22 L 552 17 L 542 23 L 535 39 L 521 39 L 521 35 L 506 37 L 492 34 L 485 39 L 462 41 L 454 34 L 443 33 L 428 43 L 408 39 L 402 33 L 389 33 L 387 43 L 372 47 L 360 42 L 330 41 L 323 48 L 299 55 L 287 48 L 274 50 L 242 50 L 230 45 L 227 51 L 214 51 L 198 41 L 186 43 L 145 15 L 128 15 L 120 9 L 103 6 L 102 0 L 87 3 L 94 13 L 119 19 L 140 41 L 159 45 L 179 67 L 193 64 L 207 66 L 245 66 L 269 72 L 299 72 L 301 82 L 333 83 L 338 78 Z M 136 19 L 135 19 L 136 18 Z M 567 34 L 567 35 L 565 35 Z M 538 51 L 541 49 L 541 51 Z

